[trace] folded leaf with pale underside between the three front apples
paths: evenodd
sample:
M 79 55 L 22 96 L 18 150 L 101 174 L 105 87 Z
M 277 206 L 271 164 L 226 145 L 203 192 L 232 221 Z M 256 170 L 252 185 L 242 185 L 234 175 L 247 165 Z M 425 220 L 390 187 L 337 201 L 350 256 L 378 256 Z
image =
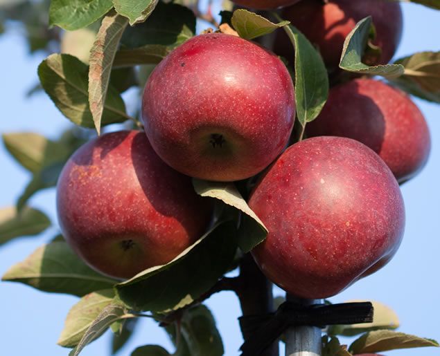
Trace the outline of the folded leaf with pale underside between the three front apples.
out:
M 234 183 L 193 179 L 193 186 L 195 192 L 200 196 L 209 196 L 221 200 L 243 213 L 240 234 L 238 235 L 238 245 L 243 252 L 249 252 L 258 243 L 265 240 L 267 228 L 247 205 Z

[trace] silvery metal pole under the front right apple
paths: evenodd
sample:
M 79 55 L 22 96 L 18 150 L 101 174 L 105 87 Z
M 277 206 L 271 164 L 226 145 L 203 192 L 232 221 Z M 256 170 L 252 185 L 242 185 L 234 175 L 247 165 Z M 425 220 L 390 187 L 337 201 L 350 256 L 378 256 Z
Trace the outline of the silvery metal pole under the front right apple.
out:
M 289 301 L 306 305 L 322 303 L 321 299 L 297 299 L 287 296 Z M 297 326 L 285 332 L 285 356 L 321 356 L 322 330 L 316 326 Z

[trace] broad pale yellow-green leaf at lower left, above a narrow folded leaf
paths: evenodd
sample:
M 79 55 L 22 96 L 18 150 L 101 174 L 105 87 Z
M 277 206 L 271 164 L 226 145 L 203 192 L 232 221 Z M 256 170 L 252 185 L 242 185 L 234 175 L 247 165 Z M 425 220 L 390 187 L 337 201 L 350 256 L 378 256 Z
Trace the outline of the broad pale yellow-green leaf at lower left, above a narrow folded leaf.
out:
M 112 303 L 113 299 L 114 290 L 112 289 L 98 290 L 82 297 L 69 310 L 57 344 L 70 348 L 78 345 L 96 317 Z

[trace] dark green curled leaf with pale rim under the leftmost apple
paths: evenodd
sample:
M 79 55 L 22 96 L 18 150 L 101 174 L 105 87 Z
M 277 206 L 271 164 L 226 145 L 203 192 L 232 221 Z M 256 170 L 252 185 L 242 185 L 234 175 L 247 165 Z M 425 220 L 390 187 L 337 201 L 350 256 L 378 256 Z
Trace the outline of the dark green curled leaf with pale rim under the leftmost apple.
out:
M 236 253 L 234 223 L 215 225 L 173 261 L 116 285 L 116 295 L 134 310 L 182 308 L 209 290 L 229 269 Z

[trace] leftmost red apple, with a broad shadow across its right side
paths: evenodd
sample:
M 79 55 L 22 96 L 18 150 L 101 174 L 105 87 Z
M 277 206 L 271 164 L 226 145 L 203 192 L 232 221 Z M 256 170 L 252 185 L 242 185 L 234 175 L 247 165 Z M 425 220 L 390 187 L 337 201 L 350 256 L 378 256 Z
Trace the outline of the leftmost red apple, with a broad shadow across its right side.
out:
M 191 178 L 162 162 L 140 131 L 80 147 L 58 180 L 57 210 L 73 250 L 118 278 L 174 259 L 202 236 L 212 212 Z

